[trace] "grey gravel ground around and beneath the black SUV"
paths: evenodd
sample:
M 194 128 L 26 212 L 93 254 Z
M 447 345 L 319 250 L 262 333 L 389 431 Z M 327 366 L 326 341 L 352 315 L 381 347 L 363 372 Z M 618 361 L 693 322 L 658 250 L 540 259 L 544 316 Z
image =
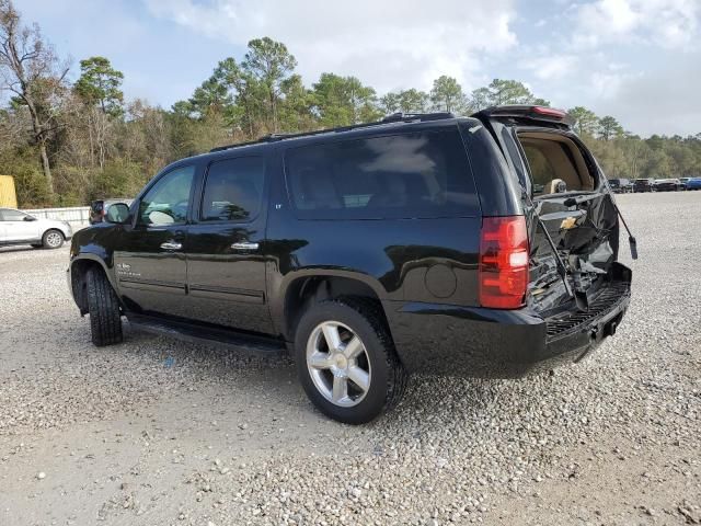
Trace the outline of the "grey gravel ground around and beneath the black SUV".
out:
M 701 193 L 619 203 L 641 259 L 594 356 L 416 376 L 361 427 L 286 357 L 128 328 L 95 348 L 67 249 L 0 249 L 0 524 L 701 524 Z

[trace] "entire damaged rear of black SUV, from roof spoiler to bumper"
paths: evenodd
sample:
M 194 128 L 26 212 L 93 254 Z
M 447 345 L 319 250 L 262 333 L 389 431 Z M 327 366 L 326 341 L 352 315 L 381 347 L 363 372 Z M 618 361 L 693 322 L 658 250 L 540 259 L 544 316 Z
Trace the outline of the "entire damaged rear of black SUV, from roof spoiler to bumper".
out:
M 566 113 L 501 106 L 475 116 L 505 153 L 520 192 L 529 255 L 522 312 L 542 319 L 545 331 L 543 354 L 530 357 L 578 361 L 616 332 L 630 301 L 632 273 L 618 262 L 620 226 L 628 226 L 613 192 Z

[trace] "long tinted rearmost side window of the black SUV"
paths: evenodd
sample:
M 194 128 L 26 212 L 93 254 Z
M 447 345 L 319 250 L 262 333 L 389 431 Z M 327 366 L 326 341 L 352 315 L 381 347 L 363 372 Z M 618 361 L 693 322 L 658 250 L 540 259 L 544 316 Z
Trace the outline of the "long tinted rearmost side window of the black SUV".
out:
M 479 210 L 457 128 L 292 148 L 285 165 L 302 219 L 433 218 Z

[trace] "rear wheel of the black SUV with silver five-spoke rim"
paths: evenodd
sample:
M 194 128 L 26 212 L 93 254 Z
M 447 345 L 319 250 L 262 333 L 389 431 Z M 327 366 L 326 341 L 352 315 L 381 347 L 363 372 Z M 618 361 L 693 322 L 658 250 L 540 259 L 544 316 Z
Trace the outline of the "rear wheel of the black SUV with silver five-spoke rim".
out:
M 355 297 L 321 301 L 302 315 L 295 336 L 297 373 L 311 402 L 326 416 L 364 424 L 400 401 L 409 375 L 383 318 L 377 304 Z M 326 330 L 338 336 L 333 351 Z M 354 338 L 361 351 L 357 342 L 348 345 Z M 345 384 L 345 390 L 336 390 L 336 382 Z

